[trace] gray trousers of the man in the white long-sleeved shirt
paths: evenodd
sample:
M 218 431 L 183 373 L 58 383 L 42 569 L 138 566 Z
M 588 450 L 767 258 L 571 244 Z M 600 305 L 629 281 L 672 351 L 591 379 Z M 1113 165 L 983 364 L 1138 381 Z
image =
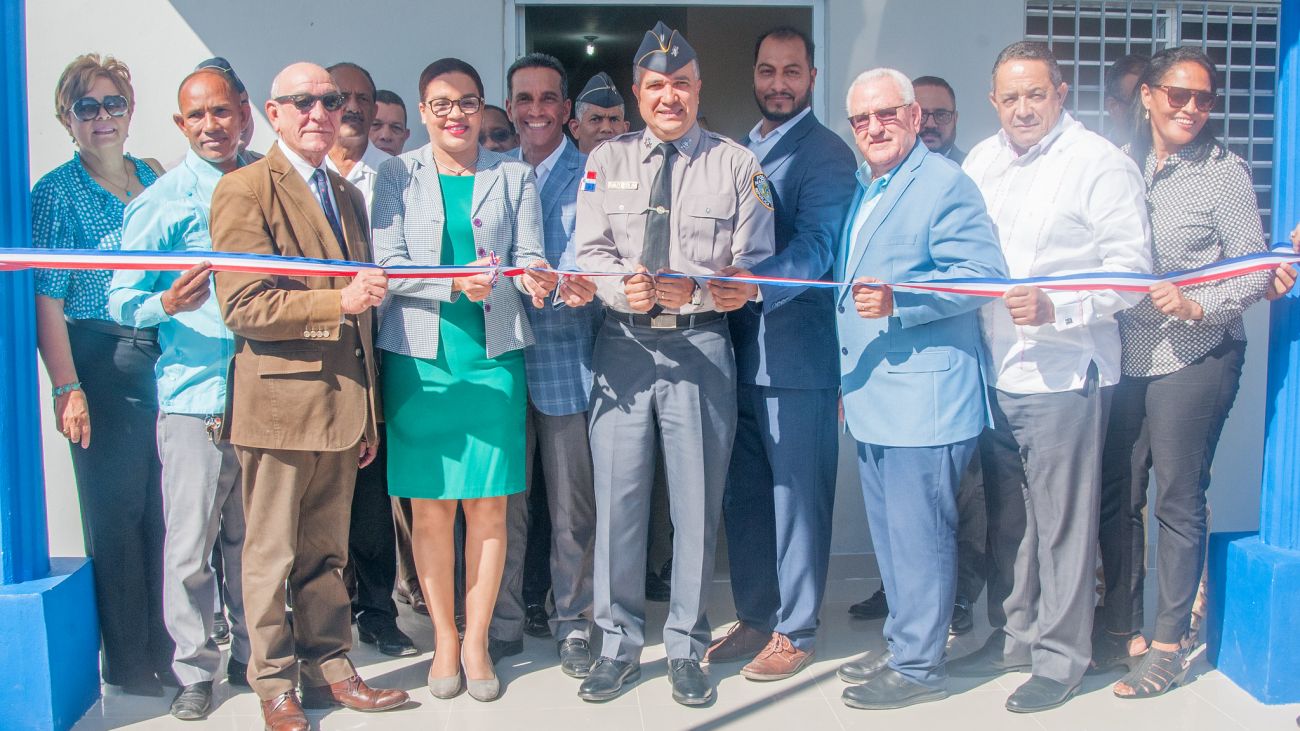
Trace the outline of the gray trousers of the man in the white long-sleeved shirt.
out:
M 989 389 L 982 441 L 988 501 L 988 613 L 1002 652 L 1075 685 L 1092 658 L 1101 447 L 1113 388 Z

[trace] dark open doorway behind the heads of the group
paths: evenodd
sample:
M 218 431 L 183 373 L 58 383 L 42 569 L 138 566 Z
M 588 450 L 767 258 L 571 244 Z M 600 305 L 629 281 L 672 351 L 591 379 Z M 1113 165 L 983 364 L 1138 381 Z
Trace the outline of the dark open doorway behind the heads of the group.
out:
M 632 57 L 645 33 L 663 21 L 690 42 L 699 56 L 703 88 L 699 114 L 705 126 L 744 140 L 758 121 L 754 104 L 754 40 L 776 26 L 793 26 L 812 36 L 811 5 L 562 5 L 520 3 L 521 53 L 540 51 L 564 64 L 569 98 L 589 78 L 606 72 L 627 103 L 632 129 L 641 117 L 632 96 Z M 820 47 L 818 48 L 820 56 Z M 818 100 L 814 99 L 816 108 Z

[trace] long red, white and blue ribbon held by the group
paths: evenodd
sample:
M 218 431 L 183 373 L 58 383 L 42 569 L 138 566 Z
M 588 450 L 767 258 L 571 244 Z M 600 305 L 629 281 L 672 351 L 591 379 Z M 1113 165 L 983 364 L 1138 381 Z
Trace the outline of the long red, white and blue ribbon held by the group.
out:
M 99 251 L 82 248 L 0 248 L 0 271 L 14 269 L 138 269 L 157 272 L 179 272 L 202 261 L 208 261 L 214 272 L 244 272 L 280 274 L 285 277 L 351 277 L 361 269 L 380 268 L 377 264 L 358 261 L 338 261 L 330 259 L 300 259 L 295 256 L 265 256 L 259 254 L 225 254 L 216 251 Z M 1167 274 L 1134 274 L 1130 272 L 1079 272 L 1053 277 L 1028 277 L 1023 280 L 1000 278 L 950 278 L 911 282 L 885 282 L 900 290 L 935 291 L 946 294 L 970 294 L 975 297 L 1002 297 L 1015 286 L 1035 286 L 1048 291 L 1096 291 L 1115 290 L 1145 293 L 1160 281 L 1179 286 L 1197 285 L 1219 280 L 1240 277 L 1253 272 L 1271 271 L 1280 264 L 1300 263 L 1290 245 L 1277 245 L 1271 251 L 1223 259 L 1205 267 L 1170 272 Z M 436 265 L 436 267 L 385 267 L 389 277 L 408 278 L 450 278 L 473 274 L 494 277 L 517 277 L 521 267 L 500 265 Z M 559 269 L 562 276 L 581 274 L 586 277 L 627 277 L 628 272 L 582 272 Z M 718 274 L 659 274 L 663 277 L 690 277 L 693 280 L 740 281 L 770 286 L 812 286 L 842 287 L 853 282 L 822 280 L 792 280 L 783 277 L 723 277 Z M 879 286 L 879 285 L 868 285 Z

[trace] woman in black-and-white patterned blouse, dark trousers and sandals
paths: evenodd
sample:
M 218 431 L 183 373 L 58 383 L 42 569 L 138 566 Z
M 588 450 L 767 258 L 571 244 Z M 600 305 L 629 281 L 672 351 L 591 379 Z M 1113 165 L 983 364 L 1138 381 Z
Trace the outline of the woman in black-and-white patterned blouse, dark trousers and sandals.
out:
M 1157 274 L 1266 250 L 1251 169 L 1206 124 L 1217 94 L 1214 64 L 1193 48 L 1157 53 L 1139 81 L 1130 153 L 1147 182 Z M 1242 377 L 1242 312 L 1264 297 L 1268 281 L 1261 272 L 1183 287 L 1161 282 L 1119 313 L 1123 376 L 1102 453 L 1106 597 L 1093 649 L 1098 667 L 1134 666 L 1115 683 L 1119 697 L 1161 695 L 1187 674 L 1210 463 Z M 1160 600 L 1145 650 L 1143 509 L 1152 468 Z

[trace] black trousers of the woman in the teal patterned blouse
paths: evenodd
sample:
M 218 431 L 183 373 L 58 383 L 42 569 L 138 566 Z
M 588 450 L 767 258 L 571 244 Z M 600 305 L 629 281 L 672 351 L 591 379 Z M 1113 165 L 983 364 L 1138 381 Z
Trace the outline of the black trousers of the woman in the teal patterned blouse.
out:
M 69 321 L 68 338 L 90 411 L 90 447 L 73 445 L 72 453 L 86 554 L 95 568 L 104 682 L 121 685 L 172 667 L 162 622 L 159 347 L 99 321 Z

